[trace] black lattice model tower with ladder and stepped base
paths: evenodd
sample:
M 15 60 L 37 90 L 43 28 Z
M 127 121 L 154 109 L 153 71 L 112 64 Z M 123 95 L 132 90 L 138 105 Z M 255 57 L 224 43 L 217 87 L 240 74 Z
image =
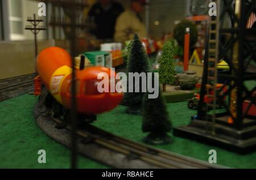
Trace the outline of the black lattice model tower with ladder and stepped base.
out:
M 256 31 L 246 24 L 256 1 L 237 0 L 235 8 L 232 3 L 211 2 L 216 3 L 220 11 L 209 21 L 199 108 L 188 126 L 174 128 L 174 135 L 248 153 L 256 150 L 256 113 L 252 113 L 256 105 L 255 50 L 252 48 Z M 232 27 L 224 28 L 228 14 L 233 14 Z M 217 70 L 221 59 L 228 62 L 228 72 Z M 217 89 L 217 85 L 221 87 Z M 205 101 L 207 98 L 212 98 L 213 103 Z M 216 110 L 218 102 L 224 105 L 221 112 Z

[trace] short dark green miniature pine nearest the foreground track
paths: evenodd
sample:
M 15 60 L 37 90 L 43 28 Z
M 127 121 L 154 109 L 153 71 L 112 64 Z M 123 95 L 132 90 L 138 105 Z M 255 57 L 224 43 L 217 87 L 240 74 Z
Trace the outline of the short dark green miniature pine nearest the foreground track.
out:
M 166 109 L 160 89 L 157 98 L 143 98 L 142 131 L 150 132 L 144 139 L 148 144 L 168 144 L 172 140 L 167 132 L 170 132 L 172 123 Z

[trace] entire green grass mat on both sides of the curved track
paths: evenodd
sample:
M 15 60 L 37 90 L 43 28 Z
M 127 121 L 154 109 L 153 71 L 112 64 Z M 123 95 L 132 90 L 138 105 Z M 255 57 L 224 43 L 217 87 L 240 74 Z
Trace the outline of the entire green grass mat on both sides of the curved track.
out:
M 70 151 L 49 138 L 36 125 L 33 108 L 36 98 L 23 95 L 0 102 L 0 168 L 69 168 Z M 93 124 L 116 135 L 142 143 L 146 134 L 141 131 L 141 117 L 125 114 L 124 106 L 98 115 Z M 187 125 L 195 110 L 187 108 L 187 102 L 167 105 L 174 126 Z M 217 163 L 232 168 L 256 168 L 256 152 L 238 155 L 224 149 L 199 142 L 174 137 L 170 145 L 156 147 L 208 161 L 210 149 L 217 151 Z M 45 149 L 47 163 L 38 164 L 38 151 Z M 88 158 L 79 156 L 79 168 L 108 168 Z

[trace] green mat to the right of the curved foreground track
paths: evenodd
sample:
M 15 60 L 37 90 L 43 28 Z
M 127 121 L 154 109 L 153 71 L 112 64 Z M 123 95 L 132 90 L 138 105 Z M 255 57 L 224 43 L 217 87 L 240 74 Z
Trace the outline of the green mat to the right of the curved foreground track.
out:
M 125 106 L 118 106 L 112 112 L 101 114 L 94 125 L 104 128 L 115 135 L 135 140 L 143 143 L 142 139 L 147 134 L 141 130 L 142 117 L 125 113 Z M 168 112 L 174 127 L 188 125 L 191 115 L 196 114 L 196 110 L 187 108 L 187 102 L 176 102 L 167 105 Z M 206 145 L 196 141 L 172 136 L 174 142 L 169 145 L 156 145 L 157 148 L 166 149 L 181 155 L 198 158 L 208 161 L 210 149 L 217 151 L 217 164 L 229 166 L 231 168 L 256 168 L 256 152 L 249 155 L 238 155 L 237 153 L 226 151 L 218 147 Z

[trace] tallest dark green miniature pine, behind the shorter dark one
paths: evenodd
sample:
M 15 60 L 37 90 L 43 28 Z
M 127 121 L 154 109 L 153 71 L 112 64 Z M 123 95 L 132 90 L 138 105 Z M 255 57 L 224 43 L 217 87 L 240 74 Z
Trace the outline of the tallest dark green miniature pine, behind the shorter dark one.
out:
M 135 33 L 133 41 L 129 47 L 129 57 L 127 57 L 127 74 L 129 72 L 149 72 L 148 65 L 148 56 L 142 45 L 142 42 L 139 40 L 139 36 Z M 129 79 L 127 79 L 127 90 L 128 90 Z M 123 99 L 123 104 L 127 105 L 128 108 L 126 112 L 129 114 L 141 114 L 142 109 L 142 100 L 144 93 L 142 92 L 142 84 L 140 83 L 140 91 L 134 92 L 135 90 L 135 81 L 133 84 L 133 92 L 125 93 Z

